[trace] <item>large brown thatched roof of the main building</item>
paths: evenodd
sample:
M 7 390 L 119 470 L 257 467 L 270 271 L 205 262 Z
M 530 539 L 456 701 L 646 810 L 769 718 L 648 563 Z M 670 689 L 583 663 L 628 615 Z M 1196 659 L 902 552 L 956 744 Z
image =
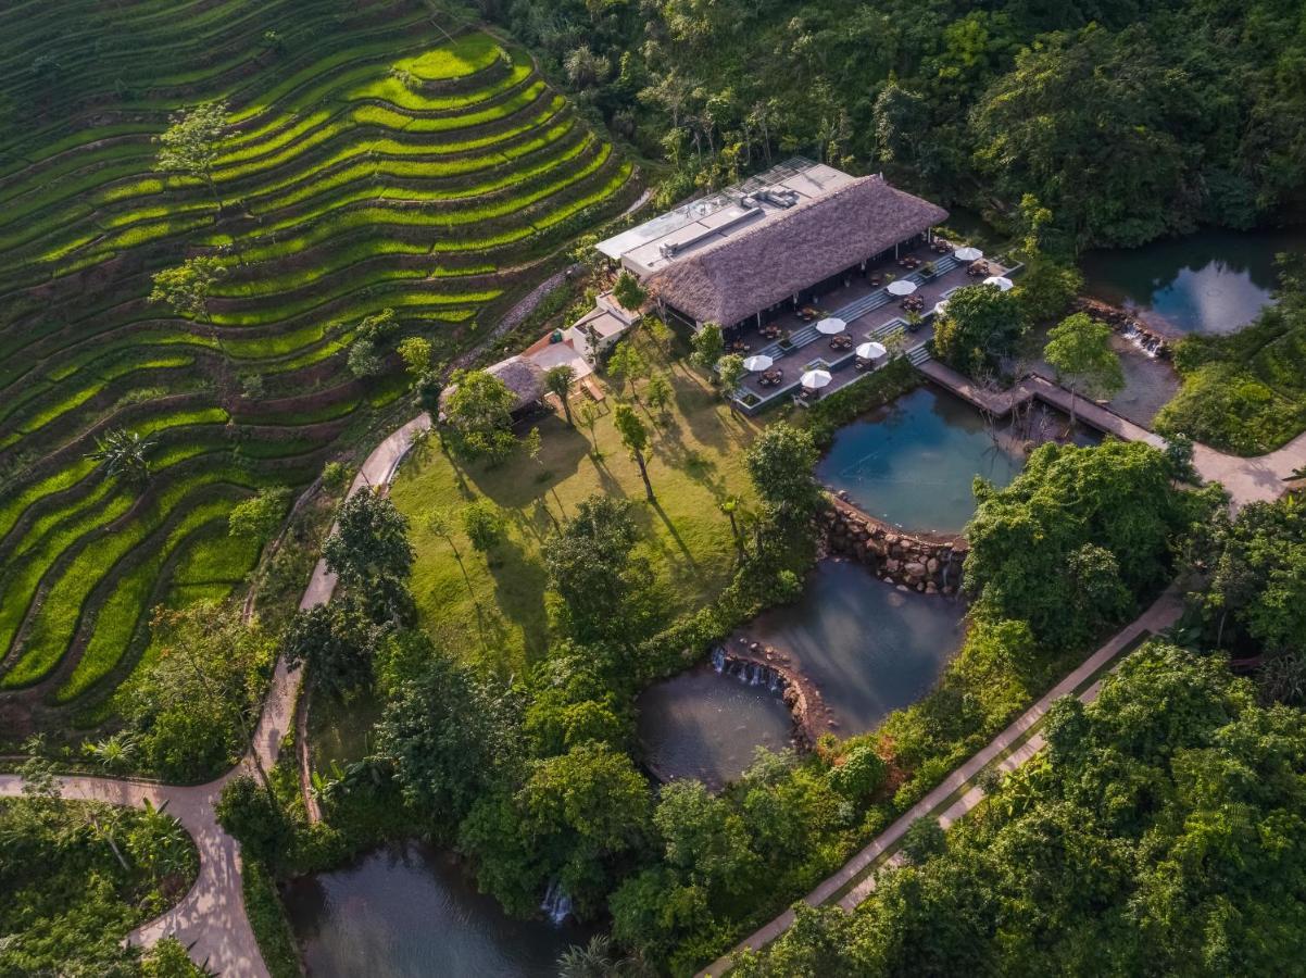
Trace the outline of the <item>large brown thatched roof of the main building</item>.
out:
M 730 325 L 947 217 L 883 178 L 863 176 L 671 262 L 648 289 L 700 323 Z

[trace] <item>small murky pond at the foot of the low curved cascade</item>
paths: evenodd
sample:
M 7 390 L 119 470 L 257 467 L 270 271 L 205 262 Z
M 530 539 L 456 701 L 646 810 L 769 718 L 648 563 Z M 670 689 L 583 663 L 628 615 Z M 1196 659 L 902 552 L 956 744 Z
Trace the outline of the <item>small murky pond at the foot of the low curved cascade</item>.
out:
M 788 747 L 793 733 L 778 693 L 707 665 L 650 686 L 639 710 L 649 769 L 662 780 L 697 778 L 710 787 L 743 774 L 757 747 Z

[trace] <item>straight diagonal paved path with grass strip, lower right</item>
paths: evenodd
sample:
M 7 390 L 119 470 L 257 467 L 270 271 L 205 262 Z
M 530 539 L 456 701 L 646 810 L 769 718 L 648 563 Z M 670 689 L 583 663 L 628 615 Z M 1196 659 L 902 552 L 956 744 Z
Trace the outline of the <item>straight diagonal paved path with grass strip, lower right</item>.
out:
M 983 798 L 983 791 L 973 783 L 981 770 L 994 764 L 998 770 L 1011 772 L 1038 753 L 1043 747 L 1043 740 L 1037 731 L 1033 734 L 1030 731 L 1042 721 L 1043 714 L 1047 713 L 1047 708 L 1055 700 L 1076 691 L 1079 691 L 1080 699 L 1085 702 L 1096 699 L 1100 688 L 1100 679 L 1097 676 L 1107 667 L 1111 667 L 1111 663 L 1122 652 L 1131 649 L 1138 641 L 1147 639 L 1149 635 L 1161 632 L 1174 624 L 1182 611 L 1183 598 L 1177 588 L 1170 588 L 1138 620 L 1123 628 L 1109 642 L 1084 659 L 1074 672 L 1049 689 L 1038 702 L 998 734 L 987 747 L 953 770 L 938 787 L 912 806 L 868 846 L 849 859 L 838 872 L 829 876 L 816 889 L 803 897 L 803 902 L 811 906 L 838 904 L 845 910 L 852 910 L 866 900 L 871 891 L 875 889 L 876 871 L 882 866 L 895 862 L 895 853 L 902 840 L 902 834 L 917 819 L 932 815 L 939 819 L 939 824 L 943 828 L 948 828 L 974 808 Z M 699 973 L 699 978 L 725 974 L 730 969 L 733 954 L 746 948 L 757 949 L 765 947 L 789 930 L 793 922 L 794 911 L 785 910 L 785 913 L 771 923 L 742 940 L 730 954 L 713 961 Z

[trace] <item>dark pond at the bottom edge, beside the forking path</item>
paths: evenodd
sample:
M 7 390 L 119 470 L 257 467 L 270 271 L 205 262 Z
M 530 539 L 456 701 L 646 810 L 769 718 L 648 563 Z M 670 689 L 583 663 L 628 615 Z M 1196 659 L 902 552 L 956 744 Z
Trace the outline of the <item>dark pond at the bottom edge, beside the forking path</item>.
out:
M 558 956 L 589 939 L 579 927 L 508 918 L 449 853 L 418 842 L 300 877 L 285 901 L 311 978 L 552 978 Z

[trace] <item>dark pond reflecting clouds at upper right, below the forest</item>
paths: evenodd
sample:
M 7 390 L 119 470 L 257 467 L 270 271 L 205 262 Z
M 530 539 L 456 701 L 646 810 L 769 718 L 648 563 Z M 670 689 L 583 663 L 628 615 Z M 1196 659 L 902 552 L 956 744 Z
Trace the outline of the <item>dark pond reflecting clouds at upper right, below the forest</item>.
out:
M 1275 255 L 1306 251 L 1306 229 L 1204 230 L 1080 260 L 1091 295 L 1170 333 L 1232 333 L 1273 302 Z

